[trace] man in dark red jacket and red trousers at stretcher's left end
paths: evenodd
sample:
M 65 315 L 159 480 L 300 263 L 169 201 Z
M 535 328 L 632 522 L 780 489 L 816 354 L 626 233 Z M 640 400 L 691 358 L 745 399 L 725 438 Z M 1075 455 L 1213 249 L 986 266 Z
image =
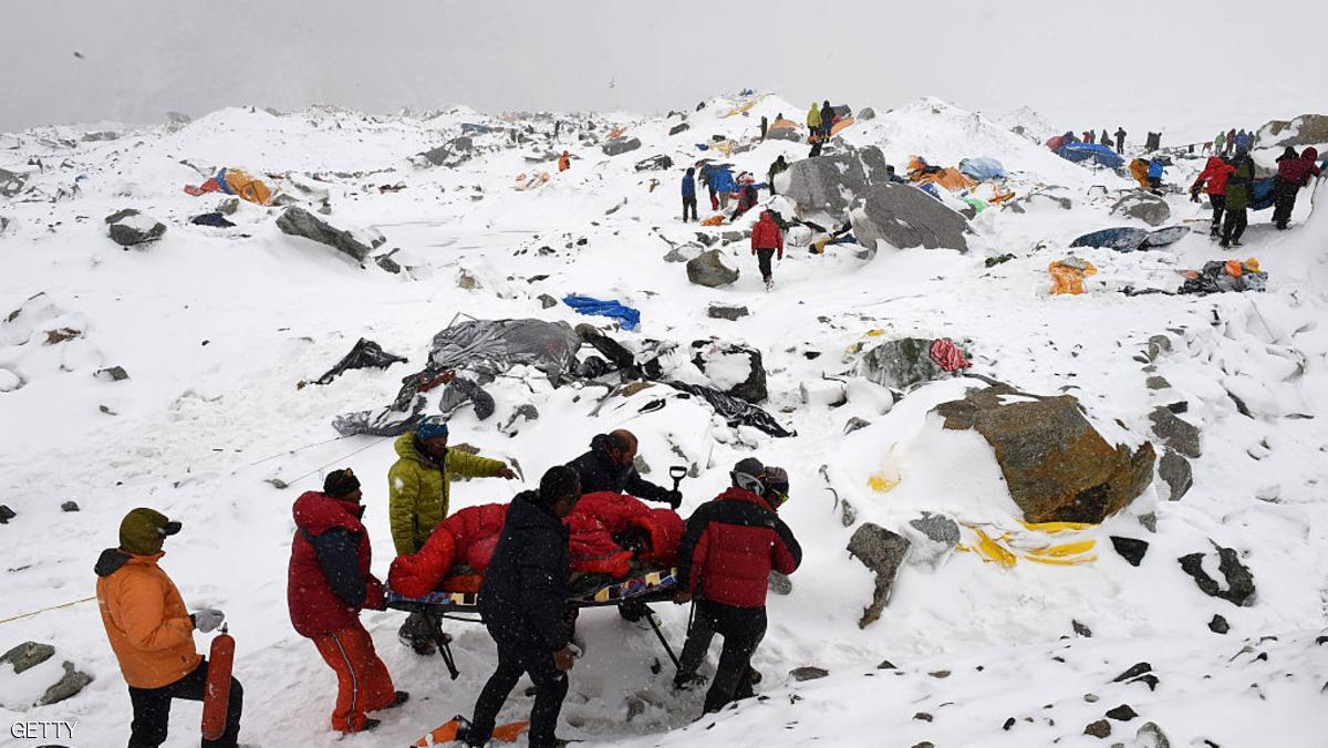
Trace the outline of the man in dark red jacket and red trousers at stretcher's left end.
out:
M 332 729 L 364 732 L 378 727 L 365 712 L 406 703 L 396 691 L 373 639 L 360 623 L 360 610 L 382 610 L 382 582 L 369 573 L 369 534 L 360 522 L 360 480 L 351 469 L 328 473 L 323 493 L 295 500 L 295 538 L 287 602 L 291 623 L 336 672 L 337 698 Z

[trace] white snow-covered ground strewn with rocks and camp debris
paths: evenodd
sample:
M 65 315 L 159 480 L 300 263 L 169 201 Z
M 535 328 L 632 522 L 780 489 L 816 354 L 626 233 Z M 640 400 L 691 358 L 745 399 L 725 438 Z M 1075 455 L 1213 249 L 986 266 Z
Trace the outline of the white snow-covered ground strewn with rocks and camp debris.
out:
M 1206 236 L 1207 211 L 1174 194 L 1170 223 L 1199 233 L 1163 250 L 1077 251 L 1101 272 L 1082 296 L 1050 296 L 1046 264 L 1076 236 L 1145 227 L 1109 215 L 1130 182 L 926 100 L 879 112 L 843 138 L 879 146 L 900 173 L 912 155 L 942 166 L 993 157 L 1011 171 L 1016 193 L 1064 197 L 1070 207 L 1035 198 L 1021 203 L 1023 213 L 988 209 L 971 223 L 976 236 L 967 254 L 888 250 L 861 260 L 851 246 L 831 246 L 825 255 L 789 247 L 769 292 L 756 258 L 737 242 L 721 248 L 741 278 L 712 290 L 691 284 L 683 264 L 663 259 L 671 244 L 699 231 L 679 221 L 679 170 L 637 173 L 632 166 L 655 154 L 691 163 L 695 143 L 714 134 L 750 141 L 762 114 L 798 122 L 805 114 L 768 96 L 746 116 L 724 117 L 736 104 L 712 100 L 688 116 L 691 130 L 672 137 L 677 117 L 591 117 L 592 141 L 610 126 L 643 141 L 618 157 L 578 141 L 567 125 L 590 116 L 564 116 L 560 138 L 550 142 L 552 120 L 507 122 L 466 109 L 400 117 L 332 108 L 282 116 L 227 109 L 185 126 L 121 129 L 112 141 L 81 142 L 84 128 L 0 136 L 0 169 L 24 171 L 39 187 L 0 198 L 0 217 L 9 219 L 0 233 L 0 314 L 20 312 L 0 323 L 0 504 L 17 513 L 0 527 L 0 619 L 92 595 L 93 561 L 116 543 L 120 518 L 134 506 L 153 506 L 185 525 L 169 541 L 163 566 L 191 607 L 223 608 L 236 636 L 236 675 L 246 687 L 242 740 L 404 745 L 454 713 L 469 713 L 494 660 L 482 627 L 450 624 L 462 676 L 449 682 L 437 658 L 418 658 L 397 643 L 401 614 L 367 612 L 397 687 L 416 698 L 384 715 L 373 733 L 340 739 L 329 732 L 333 675 L 291 630 L 286 612 L 290 506 L 329 468 L 349 465 L 368 476 L 367 523 L 374 570 L 385 577 L 392 444 L 333 440 L 332 417 L 389 403 L 400 377 L 422 365 L 432 336 L 458 315 L 607 324 L 563 304 L 546 310 L 537 299 L 575 292 L 640 310 L 637 332 L 614 332 L 627 343 L 648 337 L 685 345 L 713 336 L 760 349 L 770 389 L 764 407 L 797 436 L 730 429 L 696 400 L 669 399 L 663 411 L 641 413 L 660 396 L 651 391 L 615 396 L 591 415 L 602 389 L 555 391 L 514 372 L 490 388 L 497 415 L 481 422 L 463 411 L 453 419 L 453 441 L 517 460 L 531 484 L 584 450 L 595 433 L 629 428 L 652 468 L 648 478 L 665 481 L 668 465 L 679 461 L 671 445 L 699 466 L 700 476 L 683 484 L 684 514 L 724 488 L 734 461 L 756 454 L 790 473 L 793 500 L 782 515 L 806 559 L 793 575 L 793 593 L 770 597 L 770 628 L 754 660 L 762 699 L 700 721 L 693 721 L 700 695 L 669 690 L 672 670 L 644 624 L 612 611 L 586 612 L 580 634 L 588 652 L 572 672 L 567 736 L 604 745 L 1154 745 L 1146 735 L 1137 737 L 1139 725 L 1153 721 L 1173 747 L 1323 745 L 1328 644 L 1316 638 L 1328 627 L 1328 331 L 1319 324 L 1328 302 L 1328 213 L 1311 214 L 1309 191 L 1291 231 L 1274 231 L 1268 211 L 1252 214 L 1239 256 L 1256 256 L 1270 274 L 1264 294 L 1120 292 L 1174 291 L 1179 270 L 1224 256 Z M 1017 117 L 1037 120 L 1032 112 Z M 534 142 L 513 145 L 506 132 L 479 134 L 477 155 L 454 169 L 408 161 L 461 134 L 463 124 L 530 125 Z M 559 174 L 548 155 L 563 149 L 572 167 Z M 760 181 L 778 154 L 791 162 L 806 155 L 806 146 L 770 140 L 729 161 Z M 29 158 L 40 158 L 44 171 Z M 1259 158 L 1271 163 L 1268 154 Z M 392 275 L 372 262 L 360 267 L 332 248 L 290 238 L 275 226 L 280 209 L 240 203 L 232 229 L 190 225 L 220 197 L 195 198 L 181 187 L 201 182 L 199 169 L 219 166 L 282 174 L 275 183 L 301 198 L 325 191 L 328 222 L 380 231 L 382 250 L 400 247 L 394 259 L 409 271 Z M 1187 187 L 1201 166 L 1198 158 L 1179 161 L 1167 181 Z M 514 189 L 519 174 L 535 171 L 552 177 L 538 189 Z M 398 183 L 397 191 L 380 190 Z M 1316 197 L 1328 201 L 1321 186 Z M 142 248 L 112 243 L 102 218 L 124 207 L 165 222 L 166 236 Z M 700 230 L 718 236 L 733 229 Z M 1003 254 L 1015 259 L 984 266 Z M 462 274 L 478 287 L 458 287 Z M 710 319 L 710 303 L 745 306 L 750 315 Z M 46 332 L 61 328 L 80 335 L 46 344 Z M 961 341 L 975 373 L 1027 392 L 1070 392 L 1113 442 L 1155 441 L 1149 413 L 1183 400 L 1183 417 L 1202 429 L 1194 488 L 1167 501 L 1165 485 L 1154 481 L 1125 510 L 1082 530 L 1081 539 L 1097 541 L 1096 561 L 1084 565 L 1003 567 L 973 553 L 930 561 L 916 554 L 880 619 L 859 628 L 872 577 L 845 550 L 854 526 L 842 522 L 839 500 L 853 505 L 857 522 L 898 531 L 923 510 L 1020 530 L 991 446 L 972 432 L 942 430 L 930 415 L 976 383 L 924 385 L 892 404 L 879 385 L 845 376 L 853 369 L 845 352 L 870 340 L 871 331 Z M 1170 337 L 1171 352 L 1143 371 L 1155 335 Z M 410 363 L 297 387 L 359 337 Z M 122 367 L 129 379 L 94 376 L 106 367 Z M 1154 373 L 1171 387 L 1146 388 Z M 847 381 L 846 404 L 802 401 L 799 385 L 823 387 L 825 376 Z M 539 420 L 513 436 L 499 430 L 527 403 Z M 846 436 L 853 417 L 871 425 Z M 875 490 L 872 478 L 882 474 L 898 485 Z M 266 482 L 271 478 L 291 488 L 276 489 Z M 457 484 L 453 506 L 507 501 L 521 488 Z M 80 512 L 61 512 L 65 501 L 76 501 Z M 1155 531 L 1145 526 L 1154 517 Z M 1126 563 L 1109 535 L 1146 539 L 1143 562 Z M 1207 597 L 1182 571 L 1177 558 L 1211 551 L 1210 541 L 1239 551 L 1258 585 L 1252 605 Z M 687 608 L 659 606 L 659 612 L 680 646 Z M 1230 622 L 1228 634 L 1210 631 L 1215 614 Z M 1092 638 L 1077 634 L 1072 620 Z M 0 651 L 25 640 L 54 644 L 96 680 L 74 699 L 29 709 L 23 704 L 31 696 L 7 691 L 12 674 L 0 670 L 0 723 L 77 720 L 73 745 L 122 744 L 129 699 L 96 603 L 0 623 Z M 882 660 L 896 668 L 878 668 Z M 665 662 L 660 674 L 652 674 L 653 662 Z M 1113 683 L 1138 662 L 1151 664 L 1155 688 Z M 801 666 L 830 675 L 794 682 L 789 671 Z M 1108 740 L 1084 735 L 1085 725 L 1120 704 L 1139 716 L 1109 720 Z M 518 688 L 503 715 L 517 719 L 529 707 Z M 193 744 L 197 716 L 197 705 L 177 704 L 167 745 Z

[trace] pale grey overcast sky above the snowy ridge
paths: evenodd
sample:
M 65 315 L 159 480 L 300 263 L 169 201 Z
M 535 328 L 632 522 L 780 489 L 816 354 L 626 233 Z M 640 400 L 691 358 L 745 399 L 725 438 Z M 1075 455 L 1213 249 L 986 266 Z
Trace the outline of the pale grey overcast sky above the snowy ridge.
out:
M 653 113 L 745 86 L 1080 130 L 1328 109 L 1328 0 L 0 0 L 0 132 L 250 104 Z

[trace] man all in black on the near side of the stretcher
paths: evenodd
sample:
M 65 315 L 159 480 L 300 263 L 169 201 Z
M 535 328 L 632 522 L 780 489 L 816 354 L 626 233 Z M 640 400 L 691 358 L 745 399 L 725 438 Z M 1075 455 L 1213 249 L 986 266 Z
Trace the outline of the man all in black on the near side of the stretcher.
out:
M 544 473 L 538 492 L 517 494 L 507 509 L 502 537 L 479 587 L 479 612 L 498 644 L 498 668 L 475 701 L 474 719 L 463 737 L 467 745 L 489 741 L 498 709 L 523 672 L 535 684 L 530 745 L 556 744 L 554 732 L 574 656 L 563 622 L 571 569 L 562 518 L 571 513 L 578 498 L 576 472 L 563 465 Z

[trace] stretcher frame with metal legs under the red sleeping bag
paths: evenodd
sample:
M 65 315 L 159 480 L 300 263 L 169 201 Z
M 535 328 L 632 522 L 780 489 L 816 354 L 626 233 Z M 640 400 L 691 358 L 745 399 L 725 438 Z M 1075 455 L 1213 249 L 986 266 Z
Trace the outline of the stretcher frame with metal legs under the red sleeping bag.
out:
M 660 644 L 664 646 L 664 651 L 668 652 L 669 659 L 673 660 L 673 664 L 676 666 L 677 656 L 673 654 L 673 648 L 669 647 L 668 639 L 664 638 L 664 632 L 660 631 L 659 620 L 655 619 L 655 612 L 648 607 L 648 603 L 652 602 L 671 601 L 676 587 L 676 567 L 639 571 L 624 579 L 614 581 L 606 585 L 596 585 L 588 589 L 574 589 L 567 597 L 567 607 L 580 610 L 587 607 L 614 606 L 619 608 L 623 618 L 627 620 L 639 620 L 640 618 L 644 618 L 651 624 L 651 630 L 655 631 L 655 636 L 659 638 Z M 450 675 L 453 680 L 461 676 L 461 671 L 457 670 L 456 659 L 452 656 L 452 639 L 442 632 L 442 620 L 452 619 L 467 623 L 483 623 L 483 616 L 479 614 L 478 593 L 449 593 L 440 590 L 420 598 L 408 598 L 393 590 L 388 590 L 386 606 L 392 610 L 422 615 L 425 622 L 429 624 L 429 631 L 433 634 L 438 654 L 442 656 L 442 662 L 448 667 L 448 675 Z

